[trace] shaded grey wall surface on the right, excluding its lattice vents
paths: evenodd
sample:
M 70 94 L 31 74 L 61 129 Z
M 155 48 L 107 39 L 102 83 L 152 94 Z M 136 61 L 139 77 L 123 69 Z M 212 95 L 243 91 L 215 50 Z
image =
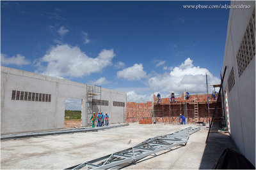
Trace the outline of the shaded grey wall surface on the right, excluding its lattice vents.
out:
M 255 166 L 255 56 L 240 77 L 236 59 L 244 32 L 255 9 L 255 1 L 232 1 L 231 4 L 250 4 L 251 8 L 230 10 L 223 60 L 223 71 L 227 66 L 223 90 L 228 96 L 230 135 L 240 152 Z M 228 76 L 232 67 L 235 85 L 228 92 Z M 225 115 L 227 118 L 226 111 Z

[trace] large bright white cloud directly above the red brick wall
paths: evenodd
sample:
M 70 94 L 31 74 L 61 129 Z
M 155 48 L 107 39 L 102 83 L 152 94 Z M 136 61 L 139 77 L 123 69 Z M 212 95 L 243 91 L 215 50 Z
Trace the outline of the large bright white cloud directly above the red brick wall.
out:
M 148 85 L 154 91 L 175 92 L 182 94 L 205 93 L 205 73 L 208 75 L 209 85 L 218 84 L 219 79 L 213 76 L 208 69 L 193 65 L 193 60 L 186 59 L 180 66 L 174 67 L 170 73 L 158 74 L 148 80 Z

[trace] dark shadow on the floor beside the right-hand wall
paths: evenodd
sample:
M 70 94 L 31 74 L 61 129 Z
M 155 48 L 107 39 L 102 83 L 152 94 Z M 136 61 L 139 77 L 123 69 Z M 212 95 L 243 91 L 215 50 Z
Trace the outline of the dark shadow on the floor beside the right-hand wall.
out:
M 226 148 L 232 148 L 236 152 L 239 152 L 228 133 L 221 133 L 218 132 L 218 128 L 213 128 L 205 145 L 200 169 L 212 169 Z

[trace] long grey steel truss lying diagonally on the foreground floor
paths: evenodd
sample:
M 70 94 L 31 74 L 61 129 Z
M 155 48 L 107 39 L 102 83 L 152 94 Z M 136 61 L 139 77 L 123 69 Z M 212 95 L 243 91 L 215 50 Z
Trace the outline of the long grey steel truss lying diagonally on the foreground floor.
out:
M 188 127 L 172 134 L 149 138 L 146 141 L 126 150 L 112 153 L 111 155 L 100 157 L 99 159 L 90 160 L 77 166 L 68 167 L 67 169 L 81 169 L 83 167 L 87 167 L 88 169 L 119 169 L 135 163 L 148 155 L 179 145 L 185 146 L 188 142 L 189 135 L 199 130 L 200 127 L 194 129 L 192 127 Z

